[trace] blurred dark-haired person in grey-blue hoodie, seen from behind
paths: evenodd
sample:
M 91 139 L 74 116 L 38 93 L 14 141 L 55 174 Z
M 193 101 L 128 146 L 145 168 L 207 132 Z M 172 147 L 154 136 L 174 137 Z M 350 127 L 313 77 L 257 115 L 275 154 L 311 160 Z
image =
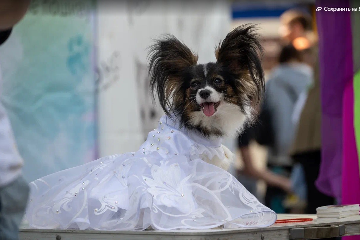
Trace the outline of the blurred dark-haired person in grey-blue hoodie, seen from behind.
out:
M 267 166 L 273 174 L 291 176 L 293 162 L 288 153 L 296 129 L 293 111 L 298 97 L 312 82 L 312 74 L 312 68 L 304 62 L 300 51 L 291 44 L 283 47 L 279 65 L 273 69 L 265 86 L 260 123 L 256 129 L 257 141 L 268 147 Z M 276 213 L 287 213 L 283 204 L 286 194 L 278 186 L 268 185 L 265 205 Z

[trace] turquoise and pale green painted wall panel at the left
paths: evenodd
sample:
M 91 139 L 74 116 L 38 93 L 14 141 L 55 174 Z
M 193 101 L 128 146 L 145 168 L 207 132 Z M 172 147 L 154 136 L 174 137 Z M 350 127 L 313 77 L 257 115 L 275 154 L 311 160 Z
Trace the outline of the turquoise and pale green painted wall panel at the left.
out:
M 1 101 L 27 181 L 98 155 L 93 4 L 34 0 L 0 48 Z

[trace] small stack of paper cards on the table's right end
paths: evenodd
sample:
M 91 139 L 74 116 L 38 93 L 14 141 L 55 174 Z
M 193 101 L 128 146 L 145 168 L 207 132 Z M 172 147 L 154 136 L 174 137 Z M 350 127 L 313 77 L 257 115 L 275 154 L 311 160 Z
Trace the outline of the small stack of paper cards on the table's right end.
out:
M 317 218 L 343 218 L 359 215 L 359 204 L 329 205 L 316 208 Z

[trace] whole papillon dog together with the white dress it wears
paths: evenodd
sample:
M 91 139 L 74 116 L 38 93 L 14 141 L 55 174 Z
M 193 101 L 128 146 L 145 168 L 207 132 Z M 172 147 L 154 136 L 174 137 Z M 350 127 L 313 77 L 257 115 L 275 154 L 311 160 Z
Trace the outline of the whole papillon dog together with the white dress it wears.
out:
M 216 63 L 197 64 L 197 55 L 174 36 L 157 40 L 150 47 L 149 81 L 166 116 L 135 152 L 33 181 L 29 225 L 171 230 L 273 224 L 276 213 L 224 171 L 234 154 L 221 145 L 222 137 L 254 121 L 264 91 L 255 29 L 233 29 L 217 47 Z

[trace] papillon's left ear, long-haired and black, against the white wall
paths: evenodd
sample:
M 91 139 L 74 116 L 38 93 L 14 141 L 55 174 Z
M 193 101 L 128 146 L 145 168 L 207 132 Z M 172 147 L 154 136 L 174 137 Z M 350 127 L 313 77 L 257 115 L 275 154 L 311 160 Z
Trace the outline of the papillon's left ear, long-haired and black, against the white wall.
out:
M 172 100 L 180 94 L 181 73 L 197 64 L 198 56 L 172 35 L 165 35 L 149 47 L 150 92 L 167 115 Z

